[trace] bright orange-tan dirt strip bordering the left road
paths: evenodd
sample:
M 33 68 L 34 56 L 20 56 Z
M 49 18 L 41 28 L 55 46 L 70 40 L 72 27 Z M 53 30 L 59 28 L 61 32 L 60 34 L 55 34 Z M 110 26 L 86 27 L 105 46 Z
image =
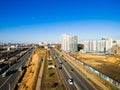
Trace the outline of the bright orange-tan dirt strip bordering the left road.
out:
M 33 90 L 37 79 L 37 73 L 39 68 L 39 60 L 46 55 L 45 49 L 36 49 L 32 55 L 32 59 L 29 62 L 29 66 L 26 69 L 25 75 L 18 87 L 18 90 Z

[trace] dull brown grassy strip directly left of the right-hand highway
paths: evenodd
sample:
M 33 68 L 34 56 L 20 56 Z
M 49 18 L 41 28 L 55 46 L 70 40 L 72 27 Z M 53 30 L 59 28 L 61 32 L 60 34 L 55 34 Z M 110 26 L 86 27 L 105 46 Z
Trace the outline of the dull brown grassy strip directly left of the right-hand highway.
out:
M 48 57 L 51 57 L 49 51 L 47 53 Z M 48 68 L 49 65 L 54 65 L 55 68 Z M 65 90 L 53 58 L 52 60 L 46 59 L 45 61 L 41 90 Z

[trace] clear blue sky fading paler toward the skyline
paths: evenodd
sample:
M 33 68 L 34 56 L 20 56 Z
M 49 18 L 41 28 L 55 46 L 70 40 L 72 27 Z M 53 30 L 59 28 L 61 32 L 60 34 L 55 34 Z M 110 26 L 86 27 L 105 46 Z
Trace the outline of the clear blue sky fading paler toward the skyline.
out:
M 120 0 L 0 0 L 0 42 L 120 39 Z

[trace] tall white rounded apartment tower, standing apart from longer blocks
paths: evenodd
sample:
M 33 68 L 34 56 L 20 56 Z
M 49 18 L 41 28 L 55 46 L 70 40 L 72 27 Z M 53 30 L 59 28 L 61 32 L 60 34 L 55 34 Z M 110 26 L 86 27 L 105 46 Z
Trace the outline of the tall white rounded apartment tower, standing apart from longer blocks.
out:
M 78 37 L 77 36 L 72 36 L 69 34 L 63 34 L 62 35 L 62 46 L 61 49 L 64 51 L 77 51 L 77 42 L 78 42 Z

